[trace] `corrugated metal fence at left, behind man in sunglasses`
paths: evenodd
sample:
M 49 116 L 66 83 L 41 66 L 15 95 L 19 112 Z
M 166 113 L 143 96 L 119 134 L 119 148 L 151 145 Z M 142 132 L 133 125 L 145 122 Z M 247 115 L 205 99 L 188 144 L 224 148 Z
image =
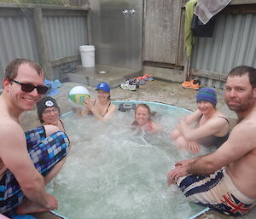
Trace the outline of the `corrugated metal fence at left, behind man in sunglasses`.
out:
M 7 6 L 8 5 L 8 6 Z M 42 42 L 37 36 L 38 20 L 35 20 L 38 6 L 10 6 L 0 4 L 0 73 L 3 78 L 5 66 L 15 58 L 42 61 Z M 61 68 L 80 63 L 79 46 L 88 44 L 88 9 L 77 7 L 44 7 L 42 30 L 46 42 L 46 54 L 52 66 L 54 78 Z M 41 27 L 39 27 L 41 28 Z M 39 46 L 41 43 L 41 47 Z M 40 63 L 44 66 L 44 63 Z M 46 72 L 48 78 L 50 72 Z M 2 88 L 2 84 L 1 84 Z

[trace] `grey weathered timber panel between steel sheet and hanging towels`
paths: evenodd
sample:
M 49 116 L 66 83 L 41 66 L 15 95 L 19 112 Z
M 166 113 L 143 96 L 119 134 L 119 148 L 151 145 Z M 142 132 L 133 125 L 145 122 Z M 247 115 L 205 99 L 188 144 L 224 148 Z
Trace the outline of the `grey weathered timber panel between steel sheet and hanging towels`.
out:
M 144 1 L 144 61 L 183 66 L 181 0 Z

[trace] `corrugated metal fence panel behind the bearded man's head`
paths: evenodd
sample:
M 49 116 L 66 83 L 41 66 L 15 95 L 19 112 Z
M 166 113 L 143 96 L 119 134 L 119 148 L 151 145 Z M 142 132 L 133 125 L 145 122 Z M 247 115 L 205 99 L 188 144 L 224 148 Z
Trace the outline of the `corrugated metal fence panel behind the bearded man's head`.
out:
M 233 67 L 256 67 L 255 36 L 256 14 L 219 14 L 213 37 L 196 38 L 190 64 L 196 78 L 223 89 Z

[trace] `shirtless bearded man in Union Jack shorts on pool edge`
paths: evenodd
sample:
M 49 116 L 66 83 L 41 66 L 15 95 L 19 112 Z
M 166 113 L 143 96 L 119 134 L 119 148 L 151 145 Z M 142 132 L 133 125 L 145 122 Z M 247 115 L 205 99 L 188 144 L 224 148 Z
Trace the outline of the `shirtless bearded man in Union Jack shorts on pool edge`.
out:
M 239 123 L 217 151 L 182 160 L 168 173 L 188 199 L 230 216 L 240 216 L 256 204 L 256 69 L 233 68 L 225 101 Z

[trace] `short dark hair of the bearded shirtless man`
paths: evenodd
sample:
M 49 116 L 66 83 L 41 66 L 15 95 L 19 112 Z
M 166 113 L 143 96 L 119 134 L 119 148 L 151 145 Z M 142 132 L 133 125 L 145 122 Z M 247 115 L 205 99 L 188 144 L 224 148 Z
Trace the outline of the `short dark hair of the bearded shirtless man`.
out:
M 248 75 L 251 86 L 256 88 L 256 69 L 251 66 L 236 66 L 230 72 L 228 77 Z

